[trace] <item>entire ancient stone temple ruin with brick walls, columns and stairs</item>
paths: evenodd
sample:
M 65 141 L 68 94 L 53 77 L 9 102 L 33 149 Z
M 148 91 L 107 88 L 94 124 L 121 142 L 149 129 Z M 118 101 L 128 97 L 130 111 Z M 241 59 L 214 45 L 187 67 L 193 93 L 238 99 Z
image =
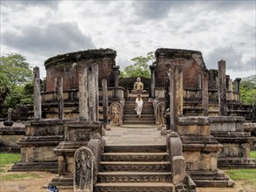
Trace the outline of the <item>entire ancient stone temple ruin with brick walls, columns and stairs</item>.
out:
M 73 191 L 232 187 L 219 168 L 256 167 L 249 158 L 253 110 L 240 103 L 239 79 L 233 89 L 225 61 L 208 70 L 200 51 L 161 48 L 155 55 L 151 78 L 132 83 L 120 79 L 111 49 L 47 59 L 43 85 L 35 67 L 34 105 L 17 141 L 22 160 L 11 171 L 52 171 L 58 175 L 51 184 Z M 135 114 L 137 93 L 142 118 Z M 165 144 L 105 140 L 110 128 L 129 126 L 155 127 Z

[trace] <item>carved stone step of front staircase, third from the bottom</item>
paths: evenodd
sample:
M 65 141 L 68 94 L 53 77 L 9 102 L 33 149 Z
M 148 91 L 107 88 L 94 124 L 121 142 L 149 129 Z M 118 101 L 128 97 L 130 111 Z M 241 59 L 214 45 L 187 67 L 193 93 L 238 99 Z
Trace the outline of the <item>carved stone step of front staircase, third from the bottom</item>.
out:
M 100 161 L 100 171 L 165 172 L 170 170 L 170 161 Z

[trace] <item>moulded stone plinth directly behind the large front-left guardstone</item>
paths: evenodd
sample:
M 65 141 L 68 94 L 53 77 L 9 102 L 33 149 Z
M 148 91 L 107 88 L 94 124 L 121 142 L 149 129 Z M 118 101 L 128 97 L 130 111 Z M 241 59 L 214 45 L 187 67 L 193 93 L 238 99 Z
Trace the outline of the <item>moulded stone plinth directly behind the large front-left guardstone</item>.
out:
M 100 122 L 76 120 L 65 125 L 65 141 L 53 149 L 58 155 L 58 175 L 52 179 L 50 185 L 57 185 L 58 189 L 73 190 L 73 155 L 80 147 L 88 147 L 88 143 L 95 134 L 102 135 Z

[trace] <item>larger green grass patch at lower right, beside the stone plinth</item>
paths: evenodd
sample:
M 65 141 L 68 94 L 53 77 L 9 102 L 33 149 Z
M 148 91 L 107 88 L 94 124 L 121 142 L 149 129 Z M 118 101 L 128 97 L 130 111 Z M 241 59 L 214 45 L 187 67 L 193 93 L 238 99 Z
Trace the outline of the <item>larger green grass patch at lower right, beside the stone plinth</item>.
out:
M 230 169 L 225 173 L 231 177 L 233 181 L 243 181 L 246 184 L 255 185 L 256 183 L 256 169 Z

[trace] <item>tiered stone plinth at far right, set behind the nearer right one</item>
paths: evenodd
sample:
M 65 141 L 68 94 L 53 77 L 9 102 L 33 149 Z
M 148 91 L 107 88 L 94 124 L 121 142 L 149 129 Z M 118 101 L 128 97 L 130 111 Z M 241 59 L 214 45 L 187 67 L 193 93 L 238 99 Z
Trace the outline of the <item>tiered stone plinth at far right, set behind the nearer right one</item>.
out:
M 210 117 L 211 135 L 223 145 L 218 154 L 218 168 L 256 168 L 250 158 L 254 138 L 244 131 L 244 117 Z

